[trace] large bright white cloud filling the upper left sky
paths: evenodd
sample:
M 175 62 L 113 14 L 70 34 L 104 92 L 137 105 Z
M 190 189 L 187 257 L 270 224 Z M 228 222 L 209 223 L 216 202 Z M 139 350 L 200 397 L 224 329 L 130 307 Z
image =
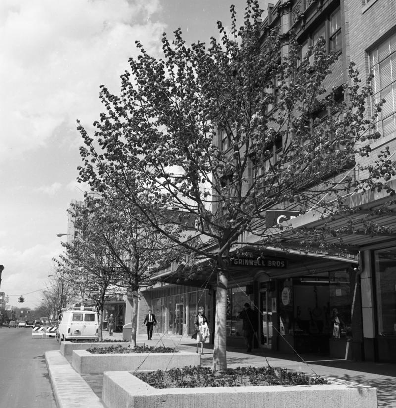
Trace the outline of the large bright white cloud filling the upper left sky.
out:
M 76 118 L 91 124 L 102 111 L 99 86 L 118 92 L 134 41 L 160 50 L 164 26 L 150 21 L 158 4 L 2 0 L 0 152 L 43 146 L 61 124 L 75 129 Z

